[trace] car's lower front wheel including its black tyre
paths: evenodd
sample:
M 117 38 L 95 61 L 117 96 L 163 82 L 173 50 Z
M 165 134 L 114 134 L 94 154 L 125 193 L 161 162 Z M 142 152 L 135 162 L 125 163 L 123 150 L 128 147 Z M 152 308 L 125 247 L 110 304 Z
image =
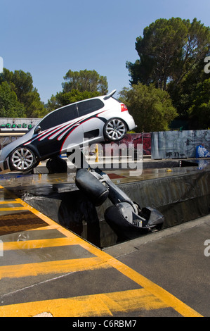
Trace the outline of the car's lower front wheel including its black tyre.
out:
M 27 147 L 18 147 L 9 156 L 11 170 L 27 171 L 37 165 L 37 158 L 34 152 Z

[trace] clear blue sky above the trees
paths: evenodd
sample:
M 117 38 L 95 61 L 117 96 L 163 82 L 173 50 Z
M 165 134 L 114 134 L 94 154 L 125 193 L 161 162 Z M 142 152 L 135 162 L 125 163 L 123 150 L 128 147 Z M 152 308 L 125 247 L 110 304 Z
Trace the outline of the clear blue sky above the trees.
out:
M 71 70 L 96 70 L 109 91 L 129 87 L 126 61 L 136 37 L 158 18 L 210 25 L 209 0 L 0 0 L 0 56 L 8 70 L 31 73 L 41 101 L 62 90 Z

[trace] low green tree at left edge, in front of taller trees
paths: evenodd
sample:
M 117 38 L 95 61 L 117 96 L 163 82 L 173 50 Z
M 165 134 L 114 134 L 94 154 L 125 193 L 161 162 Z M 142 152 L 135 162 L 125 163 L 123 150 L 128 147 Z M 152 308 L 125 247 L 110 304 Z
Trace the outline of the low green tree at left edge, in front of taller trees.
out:
M 0 85 L 0 117 L 26 117 L 25 107 L 18 101 L 17 95 L 8 85 L 8 82 L 2 82 Z

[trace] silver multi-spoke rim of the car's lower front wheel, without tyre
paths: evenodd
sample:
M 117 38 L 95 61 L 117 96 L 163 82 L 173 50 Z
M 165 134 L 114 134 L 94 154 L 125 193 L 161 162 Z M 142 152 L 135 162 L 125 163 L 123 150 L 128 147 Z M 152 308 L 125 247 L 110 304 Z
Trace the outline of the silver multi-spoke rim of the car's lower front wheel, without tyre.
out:
M 11 161 L 13 163 L 13 167 L 16 169 L 27 170 L 34 163 L 34 155 L 32 154 L 32 151 L 29 151 L 29 149 L 16 149 L 12 155 Z

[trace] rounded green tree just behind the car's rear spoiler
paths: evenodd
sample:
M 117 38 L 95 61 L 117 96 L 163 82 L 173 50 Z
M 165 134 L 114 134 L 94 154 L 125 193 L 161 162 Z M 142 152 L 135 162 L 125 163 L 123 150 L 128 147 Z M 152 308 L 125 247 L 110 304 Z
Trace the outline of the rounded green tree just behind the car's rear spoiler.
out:
M 131 89 L 124 88 L 120 98 L 133 115 L 138 132 L 169 130 L 169 124 L 178 115 L 168 92 L 153 84 L 138 83 Z

